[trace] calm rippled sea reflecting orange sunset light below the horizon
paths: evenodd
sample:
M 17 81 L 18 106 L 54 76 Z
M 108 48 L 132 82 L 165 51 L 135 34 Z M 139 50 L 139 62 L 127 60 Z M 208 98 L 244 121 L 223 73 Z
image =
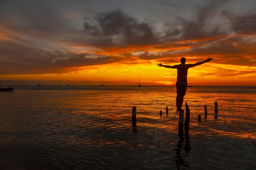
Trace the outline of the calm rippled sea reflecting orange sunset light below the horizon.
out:
M 0 92 L 0 170 L 256 170 L 256 87 L 188 88 L 189 139 L 173 86 L 13 88 Z

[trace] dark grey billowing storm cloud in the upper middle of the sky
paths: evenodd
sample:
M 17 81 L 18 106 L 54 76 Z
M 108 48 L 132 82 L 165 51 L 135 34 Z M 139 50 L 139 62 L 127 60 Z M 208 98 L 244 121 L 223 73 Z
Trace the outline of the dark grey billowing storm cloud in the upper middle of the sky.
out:
M 157 42 L 153 28 L 149 24 L 138 23 L 135 18 L 131 18 L 119 10 L 100 13 L 95 20 L 97 25 L 86 21 L 84 23 L 85 30 L 91 31 L 98 38 L 100 36 L 107 37 L 108 42 L 113 44 L 120 41 L 126 45 L 145 45 Z M 99 41 L 102 39 L 99 38 Z

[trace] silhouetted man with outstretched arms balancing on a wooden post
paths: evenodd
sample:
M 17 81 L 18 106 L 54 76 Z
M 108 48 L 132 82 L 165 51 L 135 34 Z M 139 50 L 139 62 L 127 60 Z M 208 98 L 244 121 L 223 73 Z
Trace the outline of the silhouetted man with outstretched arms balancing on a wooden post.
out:
M 177 88 L 177 97 L 176 97 L 176 105 L 177 105 L 177 111 L 184 111 L 182 110 L 182 103 L 183 103 L 183 97 L 186 94 L 186 88 L 188 86 L 187 84 L 187 75 L 188 75 L 188 70 L 191 67 L 198 66 L 201 64 L 204 64 L 206 62 L 211 62 L 213 59 L 212 58 L 207 58 L 206 60 L 202 62 L 197 62 L 195 64 L 185 64 L 186 58 L 182 57 L 180 59 L 181 64 L 174 65 L 174 66 L 167 66 L 167 65 L 162 65 L 162 63 L 158 64 L 157 66 L 159 67 L 165 67 L 165 68 L 176 68 L 177 69 L 177 82 L 176 82 L 176 88 Z

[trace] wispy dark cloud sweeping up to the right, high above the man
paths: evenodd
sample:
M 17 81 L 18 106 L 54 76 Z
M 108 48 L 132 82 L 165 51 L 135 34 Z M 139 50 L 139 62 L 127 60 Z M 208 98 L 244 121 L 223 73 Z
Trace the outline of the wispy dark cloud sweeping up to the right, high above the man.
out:
M 209 1 L 204 5 L 198 4 L 195 6 L 193 19 L 178 16 L 175 17 L 175 20 L 170 20 L 166 24 L 169 29 L 166 29 L 165 35 L 170 38 L 166 40 L 198 40 L 227 34 L 227 31 L 219 28 L 217 24 L 210 23 L 217 15 L 215 10 L 225 3 L 226 1 Z

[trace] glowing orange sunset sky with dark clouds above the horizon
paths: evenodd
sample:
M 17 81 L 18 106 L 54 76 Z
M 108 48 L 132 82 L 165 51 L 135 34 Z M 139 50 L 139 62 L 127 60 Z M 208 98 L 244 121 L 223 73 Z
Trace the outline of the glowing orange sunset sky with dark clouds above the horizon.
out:
M 2 85 L 256 86 L 255 0 L 1 0 Z

